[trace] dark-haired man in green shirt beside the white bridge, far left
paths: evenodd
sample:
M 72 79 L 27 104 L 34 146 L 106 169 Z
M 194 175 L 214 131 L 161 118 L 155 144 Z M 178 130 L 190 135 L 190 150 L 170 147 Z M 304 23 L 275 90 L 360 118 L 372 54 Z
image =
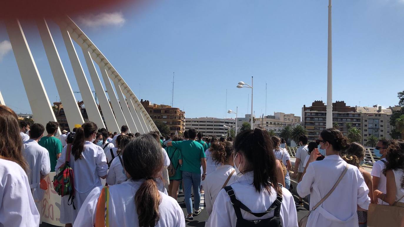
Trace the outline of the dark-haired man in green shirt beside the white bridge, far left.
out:
M 50 159 L 50 170 L 55 171 L 55 166 L 57 159 L 60 157 L 62 153 L 62 142 L 58 138 L 55 137 L 57 129 L 59 128 L 59 123 L 55 121 L 49 121 L 46 124 L 46 132 L 48 135 L 41 138 L 38 142 L 39 145 L 46 148 L 49 152 Z

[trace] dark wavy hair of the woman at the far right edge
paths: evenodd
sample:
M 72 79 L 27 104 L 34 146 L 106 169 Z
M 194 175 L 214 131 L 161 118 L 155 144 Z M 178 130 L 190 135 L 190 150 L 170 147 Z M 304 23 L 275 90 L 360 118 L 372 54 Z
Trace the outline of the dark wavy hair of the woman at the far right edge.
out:
M 388 170 L 404 170 L 404 140 L 392 140 L 387 148 L 387 165 L 384 175 Z M 401 188 L 404 188 L 404 176 L 401 178 Z

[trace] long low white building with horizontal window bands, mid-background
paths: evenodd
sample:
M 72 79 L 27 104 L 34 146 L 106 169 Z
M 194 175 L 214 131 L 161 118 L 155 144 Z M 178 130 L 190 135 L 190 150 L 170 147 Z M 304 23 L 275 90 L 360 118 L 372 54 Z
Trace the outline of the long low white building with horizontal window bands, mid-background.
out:
M 227 127 L 225 127 L 226 125 Z M 195 128 L 196 131 L 202 132 L 210 137 L 220 137 L 226 135 L 227 130 L 234 130 L 236 119 L 233 118 L 216 118 L 216 117 L 198 117 L 185 118 L 185 129 Z M 239 127 L 239 125 L 237 125 Z M 241 125 L 240 125 L 241 126 Z

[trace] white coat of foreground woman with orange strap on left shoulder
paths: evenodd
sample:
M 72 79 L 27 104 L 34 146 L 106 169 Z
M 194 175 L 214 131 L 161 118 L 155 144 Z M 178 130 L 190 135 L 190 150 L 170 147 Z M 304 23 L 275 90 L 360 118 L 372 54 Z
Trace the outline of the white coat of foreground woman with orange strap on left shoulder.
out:
M 137 227 L 139 217 L 135 194 L 144 180 L 128 180 L 109 187 L 108 218 L 111 227 Z M 74 227 L 88 227 L 95 224 L 95 212 L 102 187 L 90 192 L 77 216 Z M 160 192 L 160 220 L 156 227 L 185 227 L 184 213 L 178 202 Z

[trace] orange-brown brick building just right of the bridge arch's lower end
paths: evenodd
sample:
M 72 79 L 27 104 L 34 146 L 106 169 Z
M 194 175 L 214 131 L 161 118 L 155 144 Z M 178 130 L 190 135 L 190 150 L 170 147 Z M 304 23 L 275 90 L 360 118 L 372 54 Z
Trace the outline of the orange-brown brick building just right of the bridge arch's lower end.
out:
M 154 122 L 162 121 L 170 127 L 171 132 L 185 131 L 185 112 L 169 105 L 152 104 L 149 100 L 140 100 Z

